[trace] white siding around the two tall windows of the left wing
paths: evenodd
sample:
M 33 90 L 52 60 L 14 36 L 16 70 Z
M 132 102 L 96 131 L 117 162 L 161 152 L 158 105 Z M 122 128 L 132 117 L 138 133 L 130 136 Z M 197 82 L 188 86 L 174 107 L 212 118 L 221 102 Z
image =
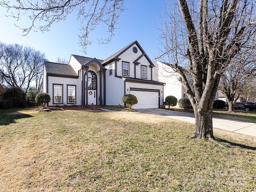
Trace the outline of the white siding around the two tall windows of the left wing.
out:
M 67 104 L 67 85 L 76 85 L 76 105 L 82 105 L 82 83 L 80 79 L 48 77 L 48 93 L 51 97 L 49 106 L 53 106 L 53 84 L 63 84 L 63 104 Z

